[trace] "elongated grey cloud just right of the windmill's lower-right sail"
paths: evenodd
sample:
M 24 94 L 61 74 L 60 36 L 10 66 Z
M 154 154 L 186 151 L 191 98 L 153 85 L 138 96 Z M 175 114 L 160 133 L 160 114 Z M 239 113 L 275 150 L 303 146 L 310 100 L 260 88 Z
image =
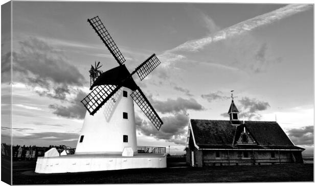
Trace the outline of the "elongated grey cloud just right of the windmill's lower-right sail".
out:
M 149 101 L 156 111 L 163 114 L 165 113 L 178 113 L 187 110 L 201 111 L 203 107 L 195 99 L 184 99 L 178 97 L 177 99 L 168 98 L 166 101 L 154 100 L 152 96 L 149 96 Z

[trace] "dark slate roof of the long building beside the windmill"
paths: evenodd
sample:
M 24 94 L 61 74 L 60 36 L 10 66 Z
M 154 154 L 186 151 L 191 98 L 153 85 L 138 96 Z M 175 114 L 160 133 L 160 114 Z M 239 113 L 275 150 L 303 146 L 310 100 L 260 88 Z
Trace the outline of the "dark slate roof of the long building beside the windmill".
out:
M 253 148 L 253 149 L 302 149 L 292 144 L 283 129 L 273 121 L 237 121 L 239 126 L 232 125 L 230 120 L 191 119 L 195 143 L 199 148 Z M 250 132 L 256 145 L 233 145 L 234 139 L 243 126 Z M 236 135 L 237 134 L 237 135 Z

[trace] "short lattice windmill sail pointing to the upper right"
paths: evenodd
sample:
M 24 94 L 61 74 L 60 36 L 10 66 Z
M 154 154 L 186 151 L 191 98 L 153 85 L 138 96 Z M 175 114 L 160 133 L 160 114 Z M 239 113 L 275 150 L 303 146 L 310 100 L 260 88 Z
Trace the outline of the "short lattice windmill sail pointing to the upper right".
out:
M 151 71 L 153 71 L 160 64 L 160 60 L 156 58 L 155 54 L 153 54 L 147 60 L 145 60 L 140 66 L 138 66 L 135 69 L 135 71 L 138 73 L 142 81 Z M 132 74 L 134 72 L 132 72 Z

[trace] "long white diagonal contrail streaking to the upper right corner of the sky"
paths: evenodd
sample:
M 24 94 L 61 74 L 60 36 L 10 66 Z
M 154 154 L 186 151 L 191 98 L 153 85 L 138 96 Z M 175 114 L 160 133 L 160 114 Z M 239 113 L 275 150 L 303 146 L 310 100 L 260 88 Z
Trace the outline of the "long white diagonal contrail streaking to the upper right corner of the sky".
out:
M 172 62 L 178 59 L 185 58 L 184 56 L 173 54 L 173 52 L 177 51 L 188 51 L 188 52 L 197 52 L 199 49 L 217 41 L 221 41 L 227 38 L 239 36 L 243 33 L 253 31 L 260 26 L 264 26 L 283 18 L 292 16 L 299 12 L 304 12 L 312 8 L 311 5 L 287 5 L 285 7 L 279 8 L 277 10 L 256 16 L 251 19 L 247 19 L 245 21 L 239 22 L 228 28 L 225 28 L 221 31 L 216 32 L 213 36 L 205 37 L 197 40 L 187 41 L 183 44 L 178 45 L 177 47 L 165 51 L 161 54 L 160 58 L 165 58 L 167 61 Z M 173 58 L 174 57 L 174 58 Z

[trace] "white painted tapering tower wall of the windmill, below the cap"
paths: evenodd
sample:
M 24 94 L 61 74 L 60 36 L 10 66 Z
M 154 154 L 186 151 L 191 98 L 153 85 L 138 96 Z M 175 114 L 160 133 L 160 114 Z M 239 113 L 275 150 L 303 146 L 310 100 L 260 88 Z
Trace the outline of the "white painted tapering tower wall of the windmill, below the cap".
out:
M 123 97 L 123 90 L 128 92 L 127 97 Z M 131 147 L 134 153 L 138 153 L 131 93 L 130 89 L 123 87 L 112 96 L 116 102 L 110 98 L 94 116 L 86 112 L 75 154 L 121 154 L 124 147 Z M 123 119 L 123 112 L 128 113 L 128 119 Z M 123 135 L 128 135 L 128 143 L 123 142 Z M 80 143 L 81 136 L 84 139 Z

